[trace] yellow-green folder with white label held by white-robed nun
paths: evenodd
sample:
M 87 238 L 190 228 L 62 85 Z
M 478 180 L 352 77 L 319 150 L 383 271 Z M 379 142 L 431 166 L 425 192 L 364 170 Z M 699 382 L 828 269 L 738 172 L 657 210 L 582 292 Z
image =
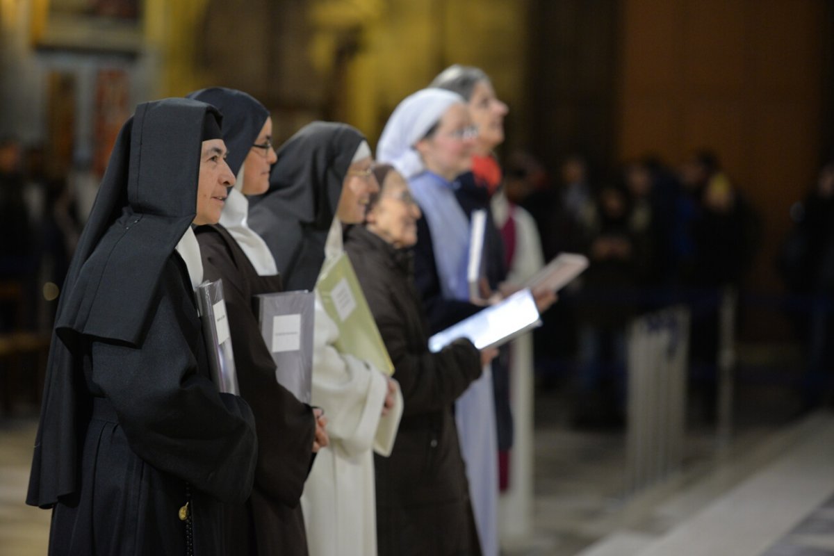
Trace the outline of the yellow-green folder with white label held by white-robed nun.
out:
M 336 348 L 373 364 L 389 376 L 394 374 L 394 363 L 391 363 L 379 328 L 376 328 L 374 315 L 347 253 L 324 262 L 315 289 L 324 310 L 339 327 Z

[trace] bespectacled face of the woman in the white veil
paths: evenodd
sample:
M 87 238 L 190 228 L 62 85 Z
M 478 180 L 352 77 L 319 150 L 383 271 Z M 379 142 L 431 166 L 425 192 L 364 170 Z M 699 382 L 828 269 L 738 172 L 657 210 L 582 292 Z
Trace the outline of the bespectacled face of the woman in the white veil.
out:
M 440 118 L 435 133 L 415 147 L 426 168 L 451 181 L 472 168 L 476 136 L 466 105 L 455 103 Z

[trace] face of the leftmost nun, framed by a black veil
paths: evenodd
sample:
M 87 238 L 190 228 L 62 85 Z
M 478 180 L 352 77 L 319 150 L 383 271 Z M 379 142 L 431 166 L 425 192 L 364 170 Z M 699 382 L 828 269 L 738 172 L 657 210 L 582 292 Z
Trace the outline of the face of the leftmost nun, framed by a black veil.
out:
M 198 226 L 218 223 L 229 188 L 233 185 L 234 174 L 226 163 L 226 143 L 223 139 L 203 141 L 194 223 Z

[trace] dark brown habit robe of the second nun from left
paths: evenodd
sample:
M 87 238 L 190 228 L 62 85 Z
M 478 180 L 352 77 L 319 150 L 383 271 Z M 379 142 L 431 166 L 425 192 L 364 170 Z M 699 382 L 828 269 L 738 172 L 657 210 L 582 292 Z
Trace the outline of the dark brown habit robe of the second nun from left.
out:
M 275 380 L 275 363 L 260 333 L 254 296 L 281 291 L 279 275 L 259 276 L 220 225 L 196 229 L 203 276 L 223 280 L 240 395 L 258 430 L 258 466 L 246 507 L 226 520 L 227 538 L 240 554 L 307 554 L 301 493 L 312 459 L 312 409 Z M 254 535 L 252 534 L 254 533 Z

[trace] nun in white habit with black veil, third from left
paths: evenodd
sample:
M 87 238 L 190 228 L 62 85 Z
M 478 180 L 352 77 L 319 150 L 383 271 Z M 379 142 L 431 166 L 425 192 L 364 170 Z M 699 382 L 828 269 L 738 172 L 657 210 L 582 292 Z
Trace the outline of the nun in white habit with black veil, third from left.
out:
M 310 123 L 279 149 L 249 224 L 288 289 L 313 289 L 325 258 L 344 252 L 344 228 L 364 221 L 379 192 L 372 163 L 364 136 L 344 123 Z M 312 400 L 327 412 L 330 443 L 316 457 L 301 504 L 310 554 L 366 556 L 377 551 L 373 453 L 391 453 L 402 395 L 379 369 L 340 353 L 338 338 L 317 297 Z

